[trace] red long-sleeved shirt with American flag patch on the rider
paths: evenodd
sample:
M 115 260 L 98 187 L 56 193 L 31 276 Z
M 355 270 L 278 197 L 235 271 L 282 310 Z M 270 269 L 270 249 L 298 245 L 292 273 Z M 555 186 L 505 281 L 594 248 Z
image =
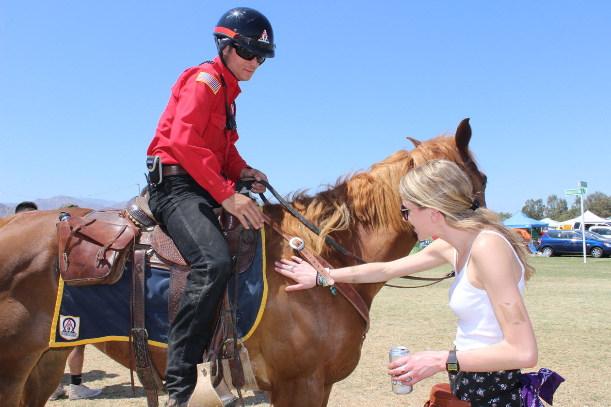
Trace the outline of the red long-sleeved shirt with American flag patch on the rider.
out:
M 232 106 L 240 85 L 219 57 L 214 63 L 189 68 L 172 87 L 147 151 L 149 156 L 160 156 L 163 165 L 182 165 L 218 203 L 233 195 L 234 181 L 247 167 L 235 148 L 238 132 L 225 129 L 221 74 L 227 84 L 227 103 Z

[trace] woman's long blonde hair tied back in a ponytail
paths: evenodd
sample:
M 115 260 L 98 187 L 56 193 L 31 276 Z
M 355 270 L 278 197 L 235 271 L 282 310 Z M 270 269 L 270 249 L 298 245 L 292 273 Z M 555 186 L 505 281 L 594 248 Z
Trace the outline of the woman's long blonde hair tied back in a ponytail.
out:
M 491 230 L 499 232 L 518 253 L 524 264 L 524 279 L 528 280 L 535 269 L 528 264 L 524 237 L 499 222 L 491 210 L 472 209 L 475 196 L 473 185 L 455 163 L 448 160 L 431 160 L 409 171 L 399 183 L 401 198 L 423 207 L 441 212 L 452 228 L 464 231 Z

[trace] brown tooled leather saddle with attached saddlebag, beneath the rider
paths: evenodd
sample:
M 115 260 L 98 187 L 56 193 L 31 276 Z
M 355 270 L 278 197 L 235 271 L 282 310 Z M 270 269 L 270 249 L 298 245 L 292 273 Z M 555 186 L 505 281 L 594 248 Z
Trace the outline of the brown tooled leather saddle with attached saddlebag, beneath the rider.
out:
M 235 268 L 246 271 L 255 256 L 257 236 L 222 211 L 221 228 Z M 186 276 L 191 267 L 180 254 L 167 229 L 156 222 L 145 196 L 135 196 L 124 210 L 103 209 L 87 217 L 69 217 L 57 224 L 59 271 L 68 285 L 112 284 L 120 279 L 126 261 L 133 262 L 131 288 L 131 335 L 136 373 L 147 392 L 149 406 L 158 406 L 158 393 L 166 392 L 148 351 L 144 326 L 144 270 L 148 267 L 170 272 L 169 322 L 174 319 Z M 239 253 L 238 253 L 239 252 Z M 216 325 L 215 325 L 216 326 Z

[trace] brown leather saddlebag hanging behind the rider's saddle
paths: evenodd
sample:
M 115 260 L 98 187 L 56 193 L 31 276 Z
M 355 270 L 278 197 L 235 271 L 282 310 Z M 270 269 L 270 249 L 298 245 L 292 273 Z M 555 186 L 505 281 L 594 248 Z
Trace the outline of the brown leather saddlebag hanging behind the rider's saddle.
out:
M 98 211 L 57 223 L 59 271 L 68 286 L 113 284 L 123 275 L 136 229 L 119 211 Z

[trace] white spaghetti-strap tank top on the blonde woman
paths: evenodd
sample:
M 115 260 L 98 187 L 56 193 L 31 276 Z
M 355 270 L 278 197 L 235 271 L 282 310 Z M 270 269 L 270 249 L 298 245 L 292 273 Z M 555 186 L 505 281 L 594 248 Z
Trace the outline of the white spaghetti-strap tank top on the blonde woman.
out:
M 522 277 L 518 283 L 518 289 L 522 294 L 524 290 L 524 264 L 520 261 L 518 254 L 513 250 L 509 241 L 498 232 L 482 231 L 475 237 L 475 240 L 482 233 L 492 233 L 502 237 L 513 251 L 522 267 Z M 486 290 L 475 288 L 467 278 L 467 264 L 469 264 L 472 250 L 473 245 L 469 250 L 467 261 L 464 262 L 463 270 L 456 275 L 452 286 L 450 286 L 450 308 L 458 317 L 458 329 L 454 341 L 456 350 L 479 349 L 503 340 L 503 331 L 500 329 L 496 315 L 494 315 Z M 456 250 L 454 250 L 454 269 L 456 270 Z

